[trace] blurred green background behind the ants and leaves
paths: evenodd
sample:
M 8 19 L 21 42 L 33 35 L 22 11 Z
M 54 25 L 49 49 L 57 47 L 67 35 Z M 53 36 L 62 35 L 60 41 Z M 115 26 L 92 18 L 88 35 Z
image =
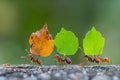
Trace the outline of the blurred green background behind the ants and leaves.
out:
M 53 38 L 61 27 L 73 31 L 80 46 L 94 25 L 105 37 L 102 56 L 120 64 L 120 0 L 0 0 L 0 64 L 21 64 L 29 36 L 48 24 Z M 53 55 L 42 58 L 45 65 L 54 64 Z M 85 59 L 80 50 L 70 56 L 73 64 Z

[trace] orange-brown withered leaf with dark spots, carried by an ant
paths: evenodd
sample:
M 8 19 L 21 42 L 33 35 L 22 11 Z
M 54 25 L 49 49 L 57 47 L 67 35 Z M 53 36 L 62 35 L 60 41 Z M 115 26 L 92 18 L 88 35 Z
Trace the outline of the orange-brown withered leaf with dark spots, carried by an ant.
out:
M 49 56 L 54 49 L 54 41 L 48 32 L 47 24 L 39 31 L 33 32 L 29 38 L 30 52 L 42 57 Z

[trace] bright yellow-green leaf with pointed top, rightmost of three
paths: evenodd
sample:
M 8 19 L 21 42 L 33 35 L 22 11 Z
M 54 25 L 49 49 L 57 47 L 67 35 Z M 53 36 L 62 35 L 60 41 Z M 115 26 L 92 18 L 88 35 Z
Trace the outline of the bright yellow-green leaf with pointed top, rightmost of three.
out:
M 100 55 L 104 47 L 104 38 L 102 34 L 96 31 L 93 26 L 91 31 L 88 31 L 83 39 L 83 48 L 86 55 Z

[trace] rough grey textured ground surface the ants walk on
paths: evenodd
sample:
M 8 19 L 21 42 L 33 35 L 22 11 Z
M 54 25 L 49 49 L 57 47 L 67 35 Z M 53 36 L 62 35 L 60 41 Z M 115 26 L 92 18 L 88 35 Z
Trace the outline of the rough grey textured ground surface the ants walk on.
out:
M 1 65 L 0 80 L 120 80 L 120 66 Z

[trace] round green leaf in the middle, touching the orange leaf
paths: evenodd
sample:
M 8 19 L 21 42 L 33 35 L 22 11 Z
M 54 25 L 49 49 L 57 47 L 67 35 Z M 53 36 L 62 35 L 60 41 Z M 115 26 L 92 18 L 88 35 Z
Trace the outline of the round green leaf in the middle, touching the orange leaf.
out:
M 79 41 L 75 34 L 64 28 L 55 36 L 57 52 L 63 55 L 74 55 L 78 49 Z

